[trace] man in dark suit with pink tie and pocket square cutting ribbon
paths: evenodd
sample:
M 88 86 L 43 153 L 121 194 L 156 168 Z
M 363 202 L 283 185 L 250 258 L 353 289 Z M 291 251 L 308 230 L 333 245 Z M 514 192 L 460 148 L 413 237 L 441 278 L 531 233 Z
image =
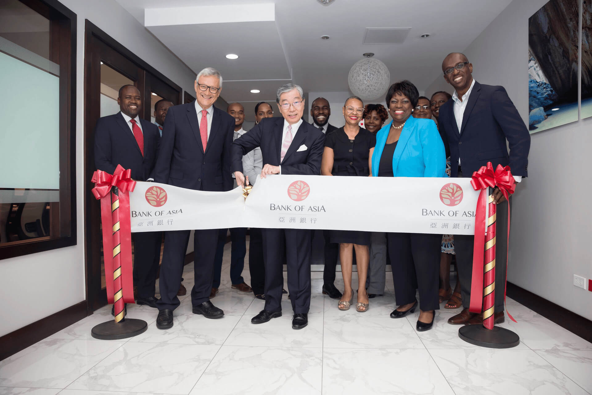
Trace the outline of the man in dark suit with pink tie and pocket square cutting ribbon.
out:
M 276 102 L 284 118 L 265 118 L 232 144 L 232 168 L 238 185 L 248 182 L 243 175 L 243 155 L 256 147 L 261 148 L 265 163 L 261 171 L 263 178 L 269 174 L 320 173 L 325 135 L 302 120 L 303 89 L 294 84 L 282 85 Z M 282 315 L 282 253 L 285 251 L 288 291 L 294 310 L 292 328 L 301 329 L 308 325 L 310 307 L 310 230 L 262 229 L 262 233 L 265 309 L 251 322 L 260 324 Z

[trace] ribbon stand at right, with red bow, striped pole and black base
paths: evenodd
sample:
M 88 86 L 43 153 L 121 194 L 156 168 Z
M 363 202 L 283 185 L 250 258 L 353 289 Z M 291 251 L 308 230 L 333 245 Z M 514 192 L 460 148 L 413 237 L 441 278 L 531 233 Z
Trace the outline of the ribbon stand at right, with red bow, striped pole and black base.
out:
M 491 162 L 475 172 L 471 180 L 475 190 L 481 190 L 475 214 L 475 246 L 473 251 L 473 275 L 471 281 L 472 313 L 483 313 L 483 325 L 465 325 L 458 330 L 459 338 L 465 342 L 487 348 L 511 348 L 519 345 L 519 336 L 509 329 L 494 326 L 494 310 L 496 306 L 496 234 L 497 206 L 493 203 L 494 187 L 509 199 L 514 192 L 514 179 L 508 167 L 498 165 L 493 171 Z M 486 192 L 487 191 L 487 192 Z M 485 203 L 487 199 L 487 203 Z M 487 211 L 485 210 L 487 204 Z M 508 210 L 510 205 L 508 201 Z M 487 212 L 487 214 L 485 214 Z M 487 223 L 485 217 L 487 216 Z M 510 227 L 508 211 L 508 232 Z M 487 227 L 487 232 L 485 232 Z M 485 237 L 483 236 L 485 235 Z M 509 245 L 508 245 L 509 248 Z M 504 264 L 507 264 L 504 262 Z M 477 290 L 482 288 L 482 300 Z M 505 284 L 504 284 L 505 301 Z M 482 303 L 481 303 L 482 302 Z M 514 320 L 511 316 L 510 318 Z

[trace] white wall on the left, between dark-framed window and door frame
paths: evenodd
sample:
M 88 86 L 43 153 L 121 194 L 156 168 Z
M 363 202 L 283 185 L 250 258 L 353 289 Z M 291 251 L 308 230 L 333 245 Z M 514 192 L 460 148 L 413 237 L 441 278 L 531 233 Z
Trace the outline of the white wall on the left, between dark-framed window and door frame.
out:
M 85 300 L 83 133 L 84 25 L 88 19 L 195 95 L 195 73 L 113 0 L 61 0 L 78 15 L 76 36 L 76 217 L 78 245 L 0 261 L 0 336 Z M 98 232 L 98 230 L 97 230 Z

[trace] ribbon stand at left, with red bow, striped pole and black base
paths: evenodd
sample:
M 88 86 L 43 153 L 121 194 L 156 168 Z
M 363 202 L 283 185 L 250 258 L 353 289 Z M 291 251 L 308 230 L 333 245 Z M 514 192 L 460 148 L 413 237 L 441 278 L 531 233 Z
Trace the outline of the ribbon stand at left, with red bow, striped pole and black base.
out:
M 92 176 L 92 182 L 95 182 L 92 192 L 97 199 L 101 200 L 107 300 L 114 304 L 115 316 L 114 320 L 100 323 L 92 328 L 91 335 L 95 339 L 131 338 L 145 332 L 148 327 L 144 320 L 125 317 L 125 303 L 134 303 L 133 289 L 130 290 L 130 286 L 133 288 L 133 282 L 131 282 L 128 191 L 134 190 L 136 182 L 130 178 L 130 174 L 129 170 L 124 170 L 118 165 L 113 175 L 96 171 Z

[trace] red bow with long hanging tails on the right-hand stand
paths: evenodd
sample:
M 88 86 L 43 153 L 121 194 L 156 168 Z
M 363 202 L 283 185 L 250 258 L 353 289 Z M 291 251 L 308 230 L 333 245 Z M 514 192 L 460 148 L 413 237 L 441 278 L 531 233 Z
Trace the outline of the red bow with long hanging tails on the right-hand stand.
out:
M 510 166 L 503 167 L 497 165 L 493 170 L 491 162 L 482 166 L 474 172 L 471 177 L 471 185 L 475 191 L 481 190 L 477 200 L 477 210 L 475 213 L 475 244 L 473 249 L 473 272 L 471 281 L 471 304 L 469 311 L 481 313 L 483 287 L 483 268 L 484 268 L 484 248 L 485 248 L 485 208 L 487 207 L 487 188 L 498 188 L 501 194 L 509 199 L 510 195 L 516 190 L 516 181 L 510 172 Z M 510 249 L 510 203 L 508 202 L 508 251 Z M 507 276 L 507 255 L 506 255 L 506 276 Z M 478 291 L 479 290 L 479 291 Z M 506 300 L 506 284 L 504 282 L 504 302 Z M 506 309 L 507 310 L 507 309 Z M 511 320 L 516 322 L 508 313 Z

